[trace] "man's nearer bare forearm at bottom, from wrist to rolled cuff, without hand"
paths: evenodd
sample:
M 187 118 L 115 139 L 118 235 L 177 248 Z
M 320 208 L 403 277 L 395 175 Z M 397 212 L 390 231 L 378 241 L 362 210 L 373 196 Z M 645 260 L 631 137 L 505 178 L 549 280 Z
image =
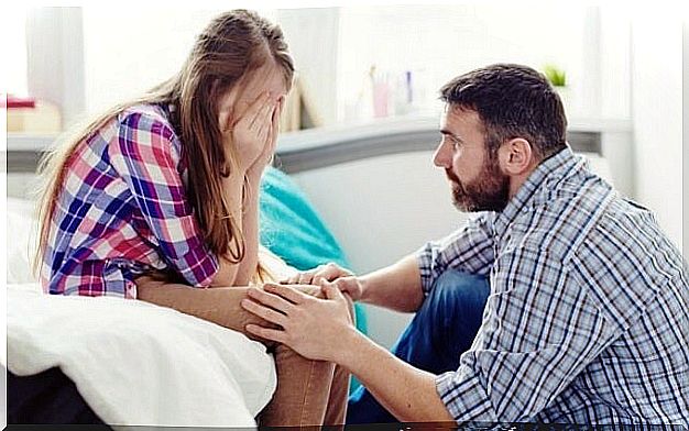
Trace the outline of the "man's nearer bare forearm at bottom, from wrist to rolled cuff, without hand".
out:
M 403 422 L 453 422 L 436 390 L 436 376 L 415 368 L 357 331 L 337 363 L 347 368 L 378 401 Z

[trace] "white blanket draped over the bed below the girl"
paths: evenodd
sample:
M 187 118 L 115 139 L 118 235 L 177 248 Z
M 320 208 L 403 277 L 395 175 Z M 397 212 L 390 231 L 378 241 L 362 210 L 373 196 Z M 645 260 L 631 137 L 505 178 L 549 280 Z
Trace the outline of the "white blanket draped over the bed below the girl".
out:
M 255 427 L 276 386 L 262 344 L 142 301 L 8 286 L 8 367 L 59 366 L 110 424 Z

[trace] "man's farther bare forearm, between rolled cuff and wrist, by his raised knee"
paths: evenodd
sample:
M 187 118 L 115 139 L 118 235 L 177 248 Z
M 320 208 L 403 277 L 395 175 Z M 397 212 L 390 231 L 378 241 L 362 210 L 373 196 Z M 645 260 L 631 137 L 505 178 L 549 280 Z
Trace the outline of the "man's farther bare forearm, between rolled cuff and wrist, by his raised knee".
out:
M 360 277 L 361 301 L 402 312 L 415 312 L 424 301 L 415 255 Z

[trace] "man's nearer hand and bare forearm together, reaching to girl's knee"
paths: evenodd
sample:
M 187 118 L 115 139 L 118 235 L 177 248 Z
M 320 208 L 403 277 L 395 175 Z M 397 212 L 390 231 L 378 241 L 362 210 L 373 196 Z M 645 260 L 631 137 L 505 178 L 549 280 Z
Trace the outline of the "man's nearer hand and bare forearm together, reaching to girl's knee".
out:
M 250 288 L 251 299 L 242 300 L 242 307 L 282 329 L 248 324 L 248 332 L 351 371 L 401 421 L 453 421 L 436 389 L 436 376 L 404 363 L 358 332 L 349 317 L 347 297 L 333 285 L 324 281 L 326 299 L 285 285 L 266 284 L 263 288 Z

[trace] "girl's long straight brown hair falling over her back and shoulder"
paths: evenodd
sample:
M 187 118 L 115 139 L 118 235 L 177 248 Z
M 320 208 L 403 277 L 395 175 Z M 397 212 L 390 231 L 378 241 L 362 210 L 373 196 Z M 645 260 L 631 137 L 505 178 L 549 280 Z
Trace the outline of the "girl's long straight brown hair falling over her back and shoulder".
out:
M 232 263 L 240 262 L 244 255 L 244 239 L 229 217 L 230 208 L 221 188 L 221 173 L 231 173 L 236 161 L 226 157 L 218 124 L 218 101 L 242 77 L 269 60 L 280 67 L 289 88 L 294 65 L 282 30 L 251 11 L 226 12 L 197 36 L 177 75 L 144 96 L 118 104 L 85 126 L 62 135 L 39 166 L 40 226 L 34 270 L 39 270 L 45 253 L 51 218 L 75 148 L 123 110 L 141 103 L 175 107 L 183 158 L 187 161 L 189 175 L 187 195 L 206 243 L 214 253 L 227 256 Z

